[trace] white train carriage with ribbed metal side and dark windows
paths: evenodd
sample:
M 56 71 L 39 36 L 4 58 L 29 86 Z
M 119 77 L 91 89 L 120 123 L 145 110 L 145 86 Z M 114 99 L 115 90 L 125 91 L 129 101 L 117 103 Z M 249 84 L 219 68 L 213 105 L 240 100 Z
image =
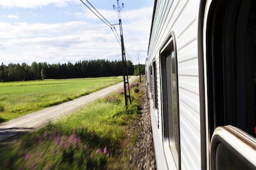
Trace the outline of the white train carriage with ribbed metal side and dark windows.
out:
M 256 1 L 155 0 L 145 83 L 158 169 L 256 169 Z

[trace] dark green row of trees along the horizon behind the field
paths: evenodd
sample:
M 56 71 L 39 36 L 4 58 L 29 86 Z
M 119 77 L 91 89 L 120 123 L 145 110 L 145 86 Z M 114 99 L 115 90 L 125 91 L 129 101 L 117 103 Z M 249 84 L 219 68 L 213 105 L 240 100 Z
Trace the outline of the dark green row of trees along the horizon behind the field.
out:
M 127 61 L 127 71 L 133 75 L 134 66 Z M 49 64 L 46 62 L 27 65 L 9 63 L 0 66 L 0 81 L 27 81 L 35 79 L 93 78 L 122 75 L 122 62 L 109 60 L 83 60 L 82 62 Z

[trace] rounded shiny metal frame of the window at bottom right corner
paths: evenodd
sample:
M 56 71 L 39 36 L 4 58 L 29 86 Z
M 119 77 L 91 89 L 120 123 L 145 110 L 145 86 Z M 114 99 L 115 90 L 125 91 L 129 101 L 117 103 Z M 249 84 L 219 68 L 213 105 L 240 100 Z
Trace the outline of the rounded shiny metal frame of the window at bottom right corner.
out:
M 236 156 L 237 161 L 247 166 L 247 168 L 255 169 L 256 167 L 256 140 L 249 136 L 246 132 L 234 126 L 217 127 L 213 132 L 210 146 L 210 168 L 218 168 L 218 147 L 223 145 L 229 153 Z M 222 155 L 221 155 L 222 156 Z M 234 157 L 233 156 L 233 157 Z M 227 161 L 226 166 L 230 167 L 234 161 Z M 221 163 L 223 166 L 223 164 Z M 234 166 L 234 165 L 233 165 Z M 234 166 L 236 167 L 236 166 Z M 233 167 L 233 169 L 234 169 Z M 238 168 L 238 167 L 237 167 Z M 240 167 L 241 168 L 241 167 Z M 240 169 L 239 168 L 239 169 Z M 243 167 L 244 169 L 247 169 Z

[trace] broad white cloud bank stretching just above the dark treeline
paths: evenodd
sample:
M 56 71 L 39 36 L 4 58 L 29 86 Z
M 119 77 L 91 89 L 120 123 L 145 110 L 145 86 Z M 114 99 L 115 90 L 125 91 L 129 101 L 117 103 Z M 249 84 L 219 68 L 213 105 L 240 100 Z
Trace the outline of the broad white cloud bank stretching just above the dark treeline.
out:
M 122 14 L 124 45 L 134 63 L 137 62 L 138 52 L 140 55 L 147 55 L 151 10 L 151 7 L 127 10 Z M 111 22 L 118 21 L 114 18 L 117 17 L 115 11 L 102 10 L 101 12 L 107 19 L 111 18 Z M 78 16 L 78 14 L 75 15 Z M 99 21 L 98 24 L 90 23 L 89 18 L 93 18 L 90 12 L 85 11 L 85 15 L 82 17 L 87 17 L 84 19 L 86 22 L 52 24 L 0 22 L 0 63 L 121 60 L 121 46 L 112 31 Z M 93 20 L 97 21 L 98 19 L 93 18 Z M 116 30 L 119 33 L 118 26 L 116 26 Z M 128 56 L 127 59 L 129 59 Z

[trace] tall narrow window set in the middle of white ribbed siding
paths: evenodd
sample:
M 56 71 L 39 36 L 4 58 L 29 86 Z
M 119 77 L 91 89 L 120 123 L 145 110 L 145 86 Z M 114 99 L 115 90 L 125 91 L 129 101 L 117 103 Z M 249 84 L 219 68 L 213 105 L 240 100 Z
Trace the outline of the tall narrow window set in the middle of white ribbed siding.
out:
M 179 169 L 179 100 L 177 81 L 177 55 L 172 33 L 169 41 L 160 52 L 161 84 L 163 97 L 163 135 L 164 143 L 168 144 L 177 169 Z

